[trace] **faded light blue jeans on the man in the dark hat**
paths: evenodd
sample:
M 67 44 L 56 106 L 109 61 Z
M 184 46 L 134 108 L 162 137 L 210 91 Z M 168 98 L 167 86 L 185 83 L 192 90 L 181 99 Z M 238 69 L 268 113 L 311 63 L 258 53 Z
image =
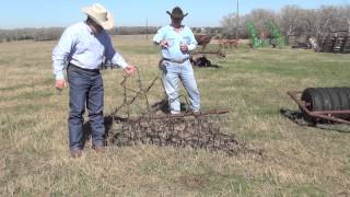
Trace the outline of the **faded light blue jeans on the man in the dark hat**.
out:
M 194 74 L 192 66 L 189 60 L 183 63 L 163 60 L 163 85 L 168 99 L 168 106 L 172 114 L 180 112 L 178 85 L 183 82 L 189 95 L 189 107 L 192 112 L 200 109 L 200 94 Z

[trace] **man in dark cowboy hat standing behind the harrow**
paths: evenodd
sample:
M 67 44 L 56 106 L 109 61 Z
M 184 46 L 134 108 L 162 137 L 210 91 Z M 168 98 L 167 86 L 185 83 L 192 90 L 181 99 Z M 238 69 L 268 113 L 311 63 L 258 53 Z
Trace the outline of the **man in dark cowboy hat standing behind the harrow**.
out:
M 189 51 L 197 47 L 197 40 L 191 30 L 182 25 L 187 13 L 184 14 L 178 7 L 175 7 L 172 13 L 166 13 L 171 15 L 172 24 L 160 28 L 153 37 L 153 43 L 162 48 L 163 85 L 168 97 L 170 111 L 171 114 L 180 113 L 178 85 L 182 81 L 189 95 L 190 109 L 198 113 L 200 95 L 189 61 Z

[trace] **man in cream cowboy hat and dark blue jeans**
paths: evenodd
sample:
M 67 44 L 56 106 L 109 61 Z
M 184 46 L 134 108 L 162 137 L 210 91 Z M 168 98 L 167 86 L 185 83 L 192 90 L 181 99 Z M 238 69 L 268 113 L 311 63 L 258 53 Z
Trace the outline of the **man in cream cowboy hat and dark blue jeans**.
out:
M 82 155 L 83 114 L 89 111 L 93 148 L 104 151 L 105 126 L 103 117 L 104 89 L 100 67 L 105 60 L 121 67 L 127 74 L 136 71 L 133 66 L 115 51 L 105 30 L 114 26 L 112 14 L 101 4 L 82 10 L 88 19 L 69 26 L 52 51 L 56 88 L 66 86 L 63 70 L 67 68 L 69 83 L 69 142 L 73 158 Z

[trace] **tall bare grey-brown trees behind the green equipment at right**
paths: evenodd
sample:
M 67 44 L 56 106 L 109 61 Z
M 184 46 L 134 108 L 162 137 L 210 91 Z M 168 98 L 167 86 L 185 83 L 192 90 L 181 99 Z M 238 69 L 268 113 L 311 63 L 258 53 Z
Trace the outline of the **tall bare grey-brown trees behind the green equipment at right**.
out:
M 349 32 L 350 5 L 323 5 L 318 9 L 302 9 L 299 5 L 285 5 L 279 12 L 255 9 L 250 13 L 237 16 L 230 13 L 221 21 L 223 36 L 247 38 L 247 23 L 253 22 L 257 32 L 268 30 L 267 23 L 273 21 L 283 36 L 317 36 L 338 31 Z

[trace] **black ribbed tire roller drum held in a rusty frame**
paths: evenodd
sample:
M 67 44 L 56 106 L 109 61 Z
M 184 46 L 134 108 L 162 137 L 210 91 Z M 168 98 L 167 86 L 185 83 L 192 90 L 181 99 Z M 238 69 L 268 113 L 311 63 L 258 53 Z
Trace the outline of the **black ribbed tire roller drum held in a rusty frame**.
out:
M 301 100 L 306 103 L 306 108 L 311 112 L 349 111 L 350 88 L 308 88 L 302 93 Z M 306 120 L 320 121 L 317 118 L 307 117 L 305 112 L 303 114 Z M 350 118 L 349 115 L 337 115 L 336 117 Z

